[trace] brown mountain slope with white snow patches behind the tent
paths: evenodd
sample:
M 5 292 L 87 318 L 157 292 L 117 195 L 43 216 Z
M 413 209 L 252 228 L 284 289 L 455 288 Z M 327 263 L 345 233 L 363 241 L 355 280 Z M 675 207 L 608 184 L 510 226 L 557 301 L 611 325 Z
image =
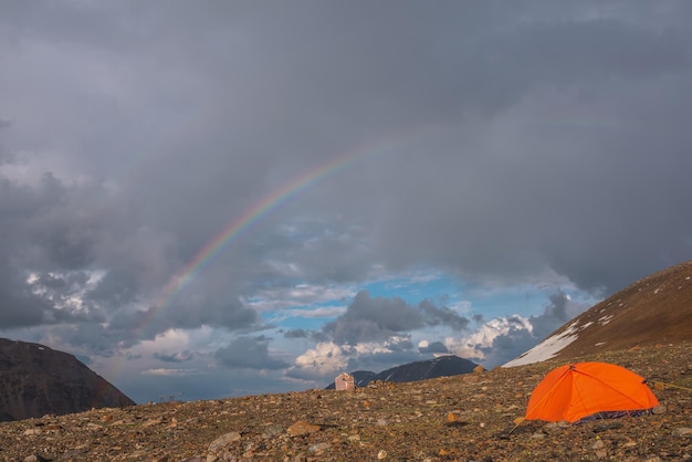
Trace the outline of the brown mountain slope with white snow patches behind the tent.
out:
M 692 340 L 692 261 L 637 281 L 504 366 L 689 340 Z

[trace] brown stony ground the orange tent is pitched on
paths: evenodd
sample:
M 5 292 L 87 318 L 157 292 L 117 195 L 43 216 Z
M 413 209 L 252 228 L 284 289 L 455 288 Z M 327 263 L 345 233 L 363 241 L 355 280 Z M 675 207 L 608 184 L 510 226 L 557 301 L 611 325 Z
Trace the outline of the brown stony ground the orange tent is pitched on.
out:
M 692 344 L 578 360 L 619 364 L 647 377 L 661 407 L 650 416 L 577 426 L 520 422 L 534 387 L 564 364 L 546 361 L 355 391 L 167 402 L 3 422 L 0 460 L 692 460 Z

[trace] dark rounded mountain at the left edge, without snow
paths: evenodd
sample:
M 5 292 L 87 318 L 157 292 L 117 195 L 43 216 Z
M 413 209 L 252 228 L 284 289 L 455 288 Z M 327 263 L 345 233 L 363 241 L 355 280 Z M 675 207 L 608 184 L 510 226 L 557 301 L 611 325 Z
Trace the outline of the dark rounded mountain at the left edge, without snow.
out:
M 74 356 L 0 338 L 0 421 L 132 405 Z

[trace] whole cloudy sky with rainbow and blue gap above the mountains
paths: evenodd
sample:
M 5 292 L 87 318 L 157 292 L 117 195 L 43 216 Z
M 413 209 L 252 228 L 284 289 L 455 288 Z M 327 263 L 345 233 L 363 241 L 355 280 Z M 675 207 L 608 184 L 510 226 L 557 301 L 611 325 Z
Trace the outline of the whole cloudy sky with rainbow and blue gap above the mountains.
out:
M 138 402 L 504 364 L 692 258 L 688 1 L 0 4 L 0 336 Z

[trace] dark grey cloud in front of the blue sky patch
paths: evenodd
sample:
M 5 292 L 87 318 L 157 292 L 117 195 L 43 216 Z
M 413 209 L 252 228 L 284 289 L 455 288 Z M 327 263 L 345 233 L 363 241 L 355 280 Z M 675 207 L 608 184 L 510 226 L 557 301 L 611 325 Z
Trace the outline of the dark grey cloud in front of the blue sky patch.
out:
M 418 306 L 401 298 L 370 297 L 360 291 L 346 313 L 325 325 L 323 332 L 336 344 L 356 345 L 360 342 L 381 342 L 424 326 L 445 325 L 462 329 L 469 321 L 448 307 L 437 307 L 430 301 Z

